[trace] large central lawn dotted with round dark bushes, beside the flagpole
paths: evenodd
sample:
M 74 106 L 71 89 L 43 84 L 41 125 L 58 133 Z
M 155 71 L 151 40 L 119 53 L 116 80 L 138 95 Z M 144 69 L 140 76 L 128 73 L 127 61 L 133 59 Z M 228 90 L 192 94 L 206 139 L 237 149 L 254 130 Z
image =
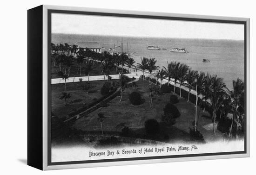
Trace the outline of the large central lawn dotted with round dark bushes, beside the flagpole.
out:
M 104 113 L 103 131 L 105 135 L 117 135 L 124 126 L 132 130 L 132 137 L 141 137 L 164 142 L 172 141 L 189 141 L 189 128 L 193 128 L 195 120 L 195 105 L 188 103 L 187 100 L 179 98 L 179 103 L 175 106 L 179 109 L 181 116 L 176 119 L 175 125 L 168 125 L 162 122 L 164 106 L 169 102 L 171 94 L 162 94 L 153 96 L 153 106 L 150 108 L 149 84 L 148 81 L 137 81 L 138 88 L 126 88 L 121 103 L 120 97 L 111 100 L 106 107 L 99 108 L 89 113 L 88 116 L 78 119 L 74 123 L 74 128 L 87 133 L 101 134 L 101 124 L 98 120 L 98 113 Z M 155 85 L 152 85 L 155 86 Z M 137 91 L 145 100 L 139 106 L 130 103 L 128 96 L 130 93 Z M 199 108 L 199 107 L 198 107 Z M 209 113 L 203 113 L 199 108 L 198 113 L 204 117 L 199 118 L 198 130 L 201 131 L 205 141 L 211 141 L 222 138 L 222 134 L 216 130 L 216 136 L 212 130 L 206 130 L 202 126 L 211 123 Z M 155 135 L 148 135 L 145 132 L 145 121 L 147 119 L 156 119 L 160 123 L 160 132 Z M 166 137 L 168 135 L 168 138 Z

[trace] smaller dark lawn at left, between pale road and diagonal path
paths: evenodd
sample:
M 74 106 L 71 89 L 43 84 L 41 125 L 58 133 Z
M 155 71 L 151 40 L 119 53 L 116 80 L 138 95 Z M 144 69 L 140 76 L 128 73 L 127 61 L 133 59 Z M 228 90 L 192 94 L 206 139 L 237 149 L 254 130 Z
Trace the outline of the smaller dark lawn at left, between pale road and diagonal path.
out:
M 71 98 L 68 99 L 67 105 L 65 105 L 64 100 L 60 99 L 61 92 L 65 91 L 65 84 L 52 84 L 52 112 L 62 120 L 67 119 L 69 117 L 68 113 L 71 113 L 80 107 L 88 106 L 93 101 L 101 98 L 101 87 L 106 81 L 90 81 L 91 88 L 89 89 L 88 94 L 83 88 L 86 86 L 86 81 L 67 83 L 67 93 L 71 94 Z

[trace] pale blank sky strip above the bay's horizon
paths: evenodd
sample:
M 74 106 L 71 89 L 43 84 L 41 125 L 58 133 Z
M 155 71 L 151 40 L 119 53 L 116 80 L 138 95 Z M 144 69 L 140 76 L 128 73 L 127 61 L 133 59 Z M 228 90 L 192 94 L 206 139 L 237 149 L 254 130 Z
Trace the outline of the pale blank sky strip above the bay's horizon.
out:
M 122 37 L 244 39 L 242 24 L 52 13 L 52 33 Z

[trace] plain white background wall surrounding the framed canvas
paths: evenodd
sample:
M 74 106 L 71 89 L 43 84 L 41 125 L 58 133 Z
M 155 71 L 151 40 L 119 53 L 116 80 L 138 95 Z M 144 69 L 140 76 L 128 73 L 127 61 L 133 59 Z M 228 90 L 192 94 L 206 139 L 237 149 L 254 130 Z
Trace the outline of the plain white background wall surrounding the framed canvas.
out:
M 246 17 L 251 19 L 251 82 L 255 88 L 256 75 L 256 19 L 253 0 L 4 0 L 0 6 L 0 171 L 7 174 L 42 174 L 28 167 L 27 159 L 27 9 L 41 4 L 62 6 L 84 6 L 138 10 L 153 12 L 173 12 L 216 16 Z M 36 58 L 35 58 L 36 59 Z M 44 172 L 47 175 L 216 175 L 255 173 L 255 93 L 251 91 L 251 157 L 195 162 L 175 162 L 133 166 L 69 169 Z

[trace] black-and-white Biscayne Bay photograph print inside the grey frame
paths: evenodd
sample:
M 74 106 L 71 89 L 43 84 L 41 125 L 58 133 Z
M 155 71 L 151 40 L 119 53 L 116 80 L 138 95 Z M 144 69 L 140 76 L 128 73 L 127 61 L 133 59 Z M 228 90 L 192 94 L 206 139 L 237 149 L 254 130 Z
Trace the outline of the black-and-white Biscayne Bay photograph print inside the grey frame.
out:
M 49 163 L 246 153 L 243 22 L 48 15 Z

